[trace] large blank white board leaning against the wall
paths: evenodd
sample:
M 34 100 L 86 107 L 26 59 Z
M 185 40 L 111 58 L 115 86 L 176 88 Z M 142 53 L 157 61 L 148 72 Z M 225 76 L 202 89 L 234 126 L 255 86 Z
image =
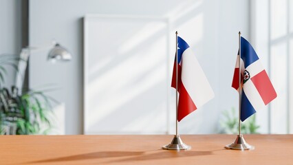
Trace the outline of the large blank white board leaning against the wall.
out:
M 85 134 L 167 132 L 168 35 L 166 19 L 85 17 Z

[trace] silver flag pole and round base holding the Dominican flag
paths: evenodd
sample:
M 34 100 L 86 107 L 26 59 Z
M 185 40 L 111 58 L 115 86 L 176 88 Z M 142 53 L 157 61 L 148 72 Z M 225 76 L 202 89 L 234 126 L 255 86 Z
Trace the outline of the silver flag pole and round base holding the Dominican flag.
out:
M 234 150 L 253 150 L 254 146 L 246 143 L 244 140 L 243 135 L 241 134 L 241 96 L 242 96 L 242 88 L 241 88 L 241 32 L 239 32 L 239 120 L 238 120 L 238 135 L 236 137 L 235 142 L 232 144 L 228 144 L 225 146 L 227 149 L 234 149 Z

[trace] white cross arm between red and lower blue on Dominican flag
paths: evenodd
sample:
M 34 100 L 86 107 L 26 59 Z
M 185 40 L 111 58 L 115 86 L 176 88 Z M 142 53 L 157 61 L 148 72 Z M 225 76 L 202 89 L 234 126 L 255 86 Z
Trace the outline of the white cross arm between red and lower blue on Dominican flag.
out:
M 249 79 L 246 81 L 246 83 L 243 85 L 243 91 L 246 94 L 250 104 L 252 104 L 252 107 L 254 107 L 255 111 L 265 107 L 265 103 L 263 102 L 259 91 L 257 91 L 257 88 L 252 83 L 252 80 Z

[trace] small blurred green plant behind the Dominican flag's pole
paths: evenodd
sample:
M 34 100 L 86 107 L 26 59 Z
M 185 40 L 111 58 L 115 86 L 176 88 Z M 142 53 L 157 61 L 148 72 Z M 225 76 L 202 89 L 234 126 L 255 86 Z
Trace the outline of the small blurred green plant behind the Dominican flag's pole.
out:
M 223 112 L 224 120 L 221 120 L 221 130 L 220 133 L 238 133 L 238 124 L 239 117 L 238 113 L 236 113 L 235 108 L 232 108 L 230 111 Z M 250 118 L 246 119 L 244 122 L 241 122 L 241 133 L 249 134 L 249 133 L 259 133 L 259 125 L 257 125 L 255 114 L 250 116 Z

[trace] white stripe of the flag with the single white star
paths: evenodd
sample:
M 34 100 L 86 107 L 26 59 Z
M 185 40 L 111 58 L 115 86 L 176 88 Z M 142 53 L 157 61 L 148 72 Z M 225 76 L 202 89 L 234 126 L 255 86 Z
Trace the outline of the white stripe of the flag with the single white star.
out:
M 186 91 L 197 108 L 215 96 L 191 48 L 186 49 L 182 54 L 181 78 Z

